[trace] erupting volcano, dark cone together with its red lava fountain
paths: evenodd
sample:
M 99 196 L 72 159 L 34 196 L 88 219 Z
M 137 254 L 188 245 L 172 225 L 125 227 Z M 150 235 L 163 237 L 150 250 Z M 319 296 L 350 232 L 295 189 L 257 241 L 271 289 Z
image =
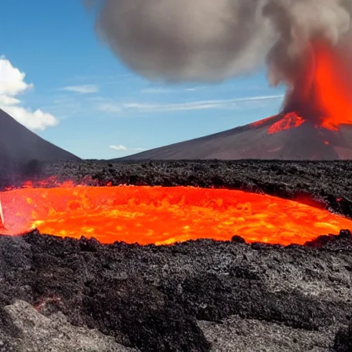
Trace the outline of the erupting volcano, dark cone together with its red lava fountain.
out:
M 352 159 L 351 56 L 310 43 L 278 115 L 120 159 Z

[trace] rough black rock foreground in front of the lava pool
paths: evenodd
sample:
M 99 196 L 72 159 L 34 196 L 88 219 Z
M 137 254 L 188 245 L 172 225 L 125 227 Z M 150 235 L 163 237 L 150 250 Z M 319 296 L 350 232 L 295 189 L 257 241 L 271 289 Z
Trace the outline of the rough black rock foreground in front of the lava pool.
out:
M 0 236 L 5 351 L 351 351 L 351 249 L 81 241 Z

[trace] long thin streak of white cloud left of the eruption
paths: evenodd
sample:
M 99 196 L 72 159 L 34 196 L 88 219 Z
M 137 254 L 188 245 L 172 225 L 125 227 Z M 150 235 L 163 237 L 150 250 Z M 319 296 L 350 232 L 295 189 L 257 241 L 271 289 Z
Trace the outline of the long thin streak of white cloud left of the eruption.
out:
M 139 113 L 164 113 L 171 111 L 190 111 L 204 109 L 234 109 L 239 103 L 253 103 L 264 100 L 282 99 L 283 95 L 277 96 L 254 96 L 248 98 L 236 98 L 229 100 L 204 100 L 196 102 L 181 102 L 172 104 L 148 104 L 140 102 L 116 103 L 105 102 L 97 105 L 97 109 L 107 113 L 119 113 L 122 111 L 137 111 Z

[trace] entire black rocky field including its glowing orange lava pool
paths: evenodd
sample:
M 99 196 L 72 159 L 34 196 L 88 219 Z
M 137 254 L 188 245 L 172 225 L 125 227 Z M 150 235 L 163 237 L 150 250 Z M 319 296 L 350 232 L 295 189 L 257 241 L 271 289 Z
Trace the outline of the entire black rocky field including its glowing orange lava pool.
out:
M 32 171 L 1 181 L 0 351 L 352 351 L 351 162 Z

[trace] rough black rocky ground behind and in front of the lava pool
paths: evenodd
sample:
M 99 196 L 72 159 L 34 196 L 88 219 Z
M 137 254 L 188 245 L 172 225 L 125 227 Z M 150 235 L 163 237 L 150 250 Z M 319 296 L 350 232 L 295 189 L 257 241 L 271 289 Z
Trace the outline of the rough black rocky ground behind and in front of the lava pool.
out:
M 352 163 L 37 165 L 93 184 L 310 194 L 351 216 Z M 90 177 L 90 180 L 89 180 Z M 91 179 L 94 179 L 92 181 Z M 19 178 L 3 177 L 6 182 Z M 0 236 L 0 351 L 352 351 L 352 236 L 305 246 Z

